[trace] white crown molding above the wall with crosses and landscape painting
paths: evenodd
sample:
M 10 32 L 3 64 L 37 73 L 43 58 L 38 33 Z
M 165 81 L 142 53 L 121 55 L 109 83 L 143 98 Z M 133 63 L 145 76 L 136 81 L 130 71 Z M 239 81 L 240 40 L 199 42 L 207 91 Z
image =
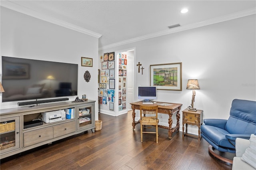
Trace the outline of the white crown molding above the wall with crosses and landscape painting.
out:
M 219 22 L 233 20 L 233 19 L 236 19 L 236 18 L 244 17 L 244 16 L 250 16 L 250 15 L 253 15 L 253 14 L 256 14 L 256 8 L 251 8 L 251 9 L 248 9 L 248 10 L 243 10 L 243 11 L 228 14 L 228 15 L 225 15 L 225 16 L 212 18 L 210 20 L 204 20 L 202 22 L 196 22 L 196 23 L 193 23 L 193 24 L 188 24 L 188 25 L 185 25 L 185 26 L 172 28 L 170 30 L 164 30 L 164 31 L 161 31 L 161 32 L 153 33 L 153 34 L 148 34 L 146 36 L 140 36 L 140 37 L 137 37 L 137 38 L 132 38 L 130 40 L 125 40 L 125 41 L 122 41 L 122 42 L 112 43 L 110 45 L 105 45 L 105 46 L 99 47 L 99 50 L 108 49 L 108 48 L 111 48 L 111 47 L 116 47 L 116 46 L 119 46 L 119 45 L 138 42 L 138 41 L 142 41 L 142 40 L 147 40 L 147 39 L 150 39 L 150 38 L 164 36 L 164 35 L 167 35 L 167 34 L 173 34 L 173 33 L 176 33 L 176 32 L 182 32 L 182 31 L 185 31 L 185 30 L 190 30 L 190 29 L 199 28 L 199 27 L 203 27 L 203 26 L 208 26 L 208 25 L 211 25 L 211 24 L 216 24 L 216 23 L 219 23 Z

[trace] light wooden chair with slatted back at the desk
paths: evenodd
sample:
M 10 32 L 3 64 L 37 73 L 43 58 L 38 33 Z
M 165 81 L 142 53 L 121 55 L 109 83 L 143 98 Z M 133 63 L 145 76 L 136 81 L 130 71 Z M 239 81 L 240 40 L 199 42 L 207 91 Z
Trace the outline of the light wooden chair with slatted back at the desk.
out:
M 142 115 L 143 114 L 143 115 Z M 156 143 L 158 143 L 158 106 L 140 105 L 140 138 L 142 142 L 143 133 L 156 133 Z M 156 132 L 143 131 L 143 125 L 154 125 Z

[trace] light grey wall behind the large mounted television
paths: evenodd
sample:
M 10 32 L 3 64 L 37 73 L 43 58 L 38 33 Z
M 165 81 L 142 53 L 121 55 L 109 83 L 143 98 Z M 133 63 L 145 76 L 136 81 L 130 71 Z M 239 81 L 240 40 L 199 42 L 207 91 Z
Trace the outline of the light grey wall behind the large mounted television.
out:
M 96 101 L 98 120 L 98 38 L 45 22 L 1 6 L 1 56 L 20 57 L 78 64 L 78 97 Z M 82 67 L 81 57 L 93 58 L 94 67 Z M 0 64 L 2 65 L 2 63 Z M 2 69 L 0 69 L 0 75 Z M 84 80 L 85 71 L 91 79 Z M 2 94 L 0 94 L 2 97 Z M 70 97 L 74 101 L 75 97 Z M 17 102 L 2 103 L 1 109 L 17 107 Z

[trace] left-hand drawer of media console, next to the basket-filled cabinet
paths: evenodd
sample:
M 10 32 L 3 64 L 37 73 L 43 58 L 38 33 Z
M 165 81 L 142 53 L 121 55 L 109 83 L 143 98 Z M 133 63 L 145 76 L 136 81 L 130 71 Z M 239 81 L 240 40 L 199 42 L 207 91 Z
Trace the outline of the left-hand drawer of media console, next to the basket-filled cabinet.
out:
M 30 132 L 24 132 L 24 147 L 37 144 L 53 138 L 52 127 L 41 128 Z

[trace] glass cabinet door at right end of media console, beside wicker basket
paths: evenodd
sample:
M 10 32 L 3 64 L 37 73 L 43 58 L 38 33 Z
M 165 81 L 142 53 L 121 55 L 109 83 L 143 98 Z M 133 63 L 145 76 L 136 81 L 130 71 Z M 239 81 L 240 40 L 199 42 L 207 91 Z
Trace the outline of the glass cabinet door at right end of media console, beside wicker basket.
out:
M 78 127 L 77 129 L 83 129 L 92 126 L 92 121 L 94 120 L 92 117 L 92 113 L 94 107 L 93 105 L 81 106 L 78 107 Z

